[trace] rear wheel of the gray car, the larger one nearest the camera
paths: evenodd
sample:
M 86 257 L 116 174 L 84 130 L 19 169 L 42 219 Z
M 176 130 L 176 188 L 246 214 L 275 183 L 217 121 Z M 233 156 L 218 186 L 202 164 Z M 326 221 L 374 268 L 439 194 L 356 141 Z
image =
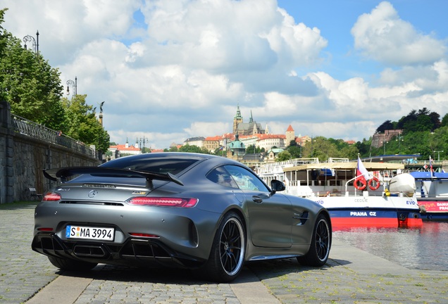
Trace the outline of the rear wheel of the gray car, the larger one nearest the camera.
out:
M 210 257 L 204 267 L 206 274 L 213 281 L 232 281 L 242 270 L 245 248 L 242 220 L 236 213 L 226 214 L 213 239 Z

